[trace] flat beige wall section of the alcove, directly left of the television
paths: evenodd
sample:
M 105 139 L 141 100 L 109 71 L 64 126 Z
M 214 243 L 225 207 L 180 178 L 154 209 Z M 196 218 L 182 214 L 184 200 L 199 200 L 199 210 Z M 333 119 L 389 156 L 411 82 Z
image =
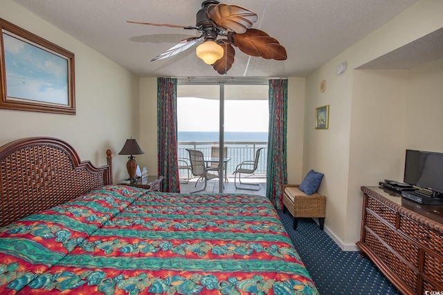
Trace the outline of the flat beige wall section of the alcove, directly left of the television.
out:
M 346 236 L 359 239 L 362 185 L 403 180 L 405 70 L 354 70 Z

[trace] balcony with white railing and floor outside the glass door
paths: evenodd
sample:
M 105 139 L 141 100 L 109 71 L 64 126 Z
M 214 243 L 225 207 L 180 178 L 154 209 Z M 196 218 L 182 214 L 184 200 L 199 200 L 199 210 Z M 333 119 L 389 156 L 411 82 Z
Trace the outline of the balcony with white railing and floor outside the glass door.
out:
M 218 145 L 218 142 L 179 142 L 178 143 L 178 151 L 177 157 L 179 160 L 186 159 L 189 161 L 188 151 L 186 149 L 196 149 L 201 151 L 205 156 L 211 156 L 211 148 L 213 145 Z M 267 166 L 267 155 L 268 155 L 268 143 L 267 142 L 224 142 L 224 145 L 227 147 L 227 155 L 225 157 L 230 158 L 230 161 L 226 164 L 226 175 L 228 177 L 228 181 L 224 182 L 224 193 L 253 193 L 264 196 L 266 194 L 266 166 Z M 255 151 L 259 148 L 262 149 L 260 153 L 260 158 L 258 161 L 257 170 L 253 175 L 242 175 L 242 182 L 253 182 L 260 183 L 262 188 L 260 191 L 247 191 L 243 189 L 235 189 L 234 187 L 234 175 L 233 172 L 238 164 L 247 160 L 254 160 Z M 180 162 L 179 165 L 182 165 L 183 162 Z M 179 175 L 181 184 L 181 192 L 187 193 L 195 190 L 195 182 L 197 178 L 191 178 L 188 183 L 188 171 L 186 169 L 180 169 Z M 190 173 L 192 176 L 192 173 Z M 237 178 L 238 185 L 238 178 Z M 199 186 L 203 186 L 201 182 L 197 184 L 197 188 Z M 218 193 L 219 192 L 219 182 L 217 180 L 208 181 L 206 191 L 202 191 L 201 193 Z

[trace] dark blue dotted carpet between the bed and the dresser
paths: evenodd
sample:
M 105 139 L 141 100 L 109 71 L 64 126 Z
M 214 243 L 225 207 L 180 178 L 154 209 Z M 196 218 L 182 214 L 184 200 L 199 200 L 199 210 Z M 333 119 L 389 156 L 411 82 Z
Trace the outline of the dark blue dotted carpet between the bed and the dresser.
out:
M 291 214 L 277 211 L 320 294 L 400 294 L 368 258 L 343 251 L 312 218 L 300 218 L 294 231 Z

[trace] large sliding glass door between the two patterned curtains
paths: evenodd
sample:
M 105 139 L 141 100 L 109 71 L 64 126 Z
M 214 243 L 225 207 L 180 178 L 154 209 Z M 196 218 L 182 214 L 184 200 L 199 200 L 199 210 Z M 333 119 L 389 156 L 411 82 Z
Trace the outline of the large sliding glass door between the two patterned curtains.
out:
M 243 161 L 254 160 L 255 151 L 260 147 L 267 148 L 268 88 L 267 80 L 179 79 L 178 157 L 181 188 L 189 187 L 181 189 L 182 192 L 204 187 L 198 177 L 192 178 L 187 168 L 191 164 L 187 149 L 201 151 L 208 173 L 217 173 L 218 182 L 206 180 L 207 193 L 223 193 L 226 189 L 235 192 L 232 183 L 235 167 Z M 261 155 L 255 176 L 264 175 L 265 182 L 266 152 Z

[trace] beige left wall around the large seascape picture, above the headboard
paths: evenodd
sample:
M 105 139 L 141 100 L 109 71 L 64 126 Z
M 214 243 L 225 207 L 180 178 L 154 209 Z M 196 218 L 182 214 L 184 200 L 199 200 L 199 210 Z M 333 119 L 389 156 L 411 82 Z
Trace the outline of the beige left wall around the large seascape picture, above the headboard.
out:
M 0 145 L 22 137 L 57 137 L 97 166 L 106 164 L 111 149 L 114 181 L 127 177 L 127 159 L 117 153 L 127 137 L 138 135 L 138 78 L 12 0 L 0 1 L 0 17 L 75 54 L 76 105 L 76 115 L 0 109 Z

